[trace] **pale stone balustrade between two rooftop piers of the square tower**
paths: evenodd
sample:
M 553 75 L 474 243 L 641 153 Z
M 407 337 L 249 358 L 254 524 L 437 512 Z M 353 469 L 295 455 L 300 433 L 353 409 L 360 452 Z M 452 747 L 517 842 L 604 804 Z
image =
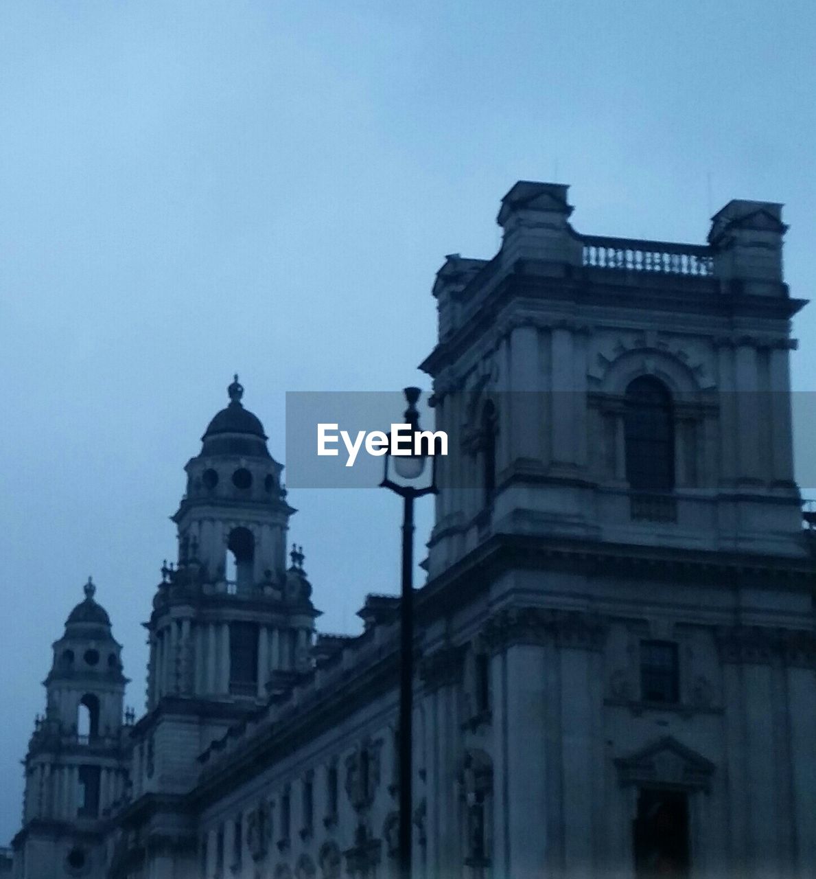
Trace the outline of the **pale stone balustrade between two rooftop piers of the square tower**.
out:
M 705 244 L 675 244 L 639 241 L 637 238 L 608 238 L 582 235 L 582 265 L 630 272 L 711 277 L 714 258 Z

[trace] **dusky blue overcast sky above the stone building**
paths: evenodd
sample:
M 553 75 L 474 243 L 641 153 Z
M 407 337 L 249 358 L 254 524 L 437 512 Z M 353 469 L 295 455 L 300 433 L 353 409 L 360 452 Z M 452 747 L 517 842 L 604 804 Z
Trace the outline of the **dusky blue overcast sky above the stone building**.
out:
M 808 298 L 814 38 L 812 0 L 4 0 L 0 842 L 89 574 L 144 707 L 168 517 L 232 375 L 284 463 L 286 391 L 427 389 L 434 274 L 495 253 L 517 179 L 570 184 L 597 235 L 703 242 L 732 198 L 784 202 Z M 396 498 L 288 499 L 321 629 L 357 631 L 398 586 Z

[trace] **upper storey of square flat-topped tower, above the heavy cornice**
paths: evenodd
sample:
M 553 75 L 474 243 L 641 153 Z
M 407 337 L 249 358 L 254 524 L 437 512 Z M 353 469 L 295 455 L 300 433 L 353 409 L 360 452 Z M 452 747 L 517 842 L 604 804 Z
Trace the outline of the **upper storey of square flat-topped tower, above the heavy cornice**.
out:
M 424 368 L 463 454 L 431 576 L 498 532 L 801 556 L 781 206 L 661 243 L 581 235 L 567 188 L 516 183 L 496 256 L 438 272 Z

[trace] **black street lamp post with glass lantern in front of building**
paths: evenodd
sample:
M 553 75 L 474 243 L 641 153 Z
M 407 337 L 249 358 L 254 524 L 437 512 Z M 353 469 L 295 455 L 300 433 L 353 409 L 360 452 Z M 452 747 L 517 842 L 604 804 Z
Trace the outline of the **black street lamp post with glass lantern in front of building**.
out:
M 431 454 L 430 483 L 420 485 L 428 458 L 428 449 L 417 450 L 415 433 L 419 431 L 416 401 L 419 388 L 403 390 L 408 402 L 404 423 L 411 429 L 411 443 L 419 454 L 396 454 L 389 447 L 385 456 L 385 473 L 380 484 L 402 498 L 402 578 L 400 593 L 400 879 L 411 879 L 411 819 L 413 773 L 412 719 L 414 712 L 414 501 L 437 492 L 437 458 Z M 431 450 L 432 451 L 432 450 Z M 400 482 L 394 482 L 392 468 Z

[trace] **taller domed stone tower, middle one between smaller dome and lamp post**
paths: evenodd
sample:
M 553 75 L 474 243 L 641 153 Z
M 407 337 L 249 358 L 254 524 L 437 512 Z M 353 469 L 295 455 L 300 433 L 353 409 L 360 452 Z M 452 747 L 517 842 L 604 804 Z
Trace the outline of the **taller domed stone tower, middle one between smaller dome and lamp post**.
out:
M 197 845 L 177 806 L 197 780 L 199 752 L 307 671 L 319 614 L 300 548 L 286 566 L 295 511 L 283 467 L 243 407 L 237 375 L 227 390 L 186 465 L 177 563 L 164 565 L 146 623 L 148 712 L 135 731 L 132 796 L 158 810 L 150 826 L 163 841 L 148 841 L 157 858 Z

